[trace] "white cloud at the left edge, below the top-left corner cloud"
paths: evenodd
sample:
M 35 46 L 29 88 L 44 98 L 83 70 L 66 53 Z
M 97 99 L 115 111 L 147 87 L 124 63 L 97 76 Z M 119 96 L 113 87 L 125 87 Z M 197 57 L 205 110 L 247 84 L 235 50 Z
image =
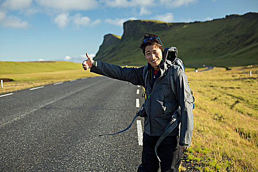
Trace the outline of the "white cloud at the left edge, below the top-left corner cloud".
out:
M 7 16 L 1 21 L 1 25 L 6 28 L 28 28 L 28 22 L 21 21 L 21 19 L 15 16 Z

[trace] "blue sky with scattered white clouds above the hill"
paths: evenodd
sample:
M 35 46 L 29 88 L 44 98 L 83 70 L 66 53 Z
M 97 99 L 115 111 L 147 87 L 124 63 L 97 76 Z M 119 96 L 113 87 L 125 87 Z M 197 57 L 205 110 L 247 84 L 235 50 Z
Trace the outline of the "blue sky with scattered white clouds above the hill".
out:
M 258 0 L 0 0 L 0 61 L 93 57 L 127 20 L 194 22 L 258 12 Z M 161 38 L 162 39 L 162 38 Z

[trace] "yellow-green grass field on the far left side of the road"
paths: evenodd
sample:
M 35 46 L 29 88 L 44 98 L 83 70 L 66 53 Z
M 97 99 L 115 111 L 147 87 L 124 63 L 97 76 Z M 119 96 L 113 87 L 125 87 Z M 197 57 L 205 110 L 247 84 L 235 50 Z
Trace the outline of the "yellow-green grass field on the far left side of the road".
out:
M 63 82 L 78 78 L 97 76 L 84 71 L 82 64 L 52 62 L 6 62 L 0 61 L 0 78 L 14 81 L 4 82 L 0 93 Z

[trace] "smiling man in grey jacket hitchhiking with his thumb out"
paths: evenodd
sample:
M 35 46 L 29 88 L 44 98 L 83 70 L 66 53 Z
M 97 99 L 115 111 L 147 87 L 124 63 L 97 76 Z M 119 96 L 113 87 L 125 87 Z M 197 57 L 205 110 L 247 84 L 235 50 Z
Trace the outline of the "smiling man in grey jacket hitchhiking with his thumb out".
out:
M 140 47 L 147 60 L 147 66 L 140 68 L 122 68 L 117 65 L 94 61 L 88 57 L 83 62 L 83 68 L 90 72 L 110 78 L 127 81 L 145 88 L 144 102 L 144 133 L 142 164 L 138 172 L 177 172 L 181 162 L 181 149 L 190 146 L 193 131 L 193 97 L 185 73 L 163 58 L 164 47 L 157 35 L 144 34 Z M 177 70 L 176 70 L 177 69 Z M 173 72 L 170 72 L 172 70 Z M 171 88 L 171 73 L 176 72 L 174 81 L 175 93 Z M 165 128 L 171 121 L 172 115 L 180 106 L 181 127 L 177 126 L 158 146 L 155 155 L 155 145 Z

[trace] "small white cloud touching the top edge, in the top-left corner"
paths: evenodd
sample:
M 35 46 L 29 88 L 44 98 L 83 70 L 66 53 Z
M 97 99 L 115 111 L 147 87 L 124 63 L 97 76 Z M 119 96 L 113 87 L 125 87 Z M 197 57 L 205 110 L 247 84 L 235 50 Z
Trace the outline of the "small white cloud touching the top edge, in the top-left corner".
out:
M 2 6 L 9 9 L 24 9 L 32 5 L 32 0 L 5 0 Z

